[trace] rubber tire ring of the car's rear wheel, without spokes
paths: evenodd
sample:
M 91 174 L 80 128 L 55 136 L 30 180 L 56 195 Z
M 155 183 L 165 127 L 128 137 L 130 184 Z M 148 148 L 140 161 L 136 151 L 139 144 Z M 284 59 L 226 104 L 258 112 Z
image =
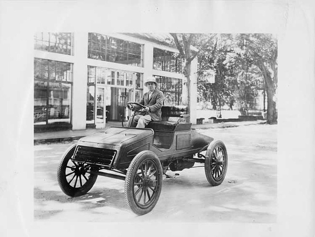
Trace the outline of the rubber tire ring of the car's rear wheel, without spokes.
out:
M 224 166 L 223 166 L 223 171 L 222 171 L 222 176 L 219 180 L 215 180 L 214 177 L 211 174 L 211 168 L 210 168 L 210 161 L 211 161 L 211 156 L 213 151 L 215 150 L 215 148 L 217 146 L 221 146 L 225 155 L 225 162 L 224 162 Z M 228 158 L 227 158 L 227 151 L 226 151 L 226 147 L 224 145 L 224 143 L 220 140 L 214 140 L 212 141 L 206 151 L 205 154 L 205 176 L 208 180 L 208 182 L 212 185 L 212 186 L 218 186 L 220 185 L 225 177 L 226 174 L 226 170 L 227 170 L 227 164 L 228 164 Z

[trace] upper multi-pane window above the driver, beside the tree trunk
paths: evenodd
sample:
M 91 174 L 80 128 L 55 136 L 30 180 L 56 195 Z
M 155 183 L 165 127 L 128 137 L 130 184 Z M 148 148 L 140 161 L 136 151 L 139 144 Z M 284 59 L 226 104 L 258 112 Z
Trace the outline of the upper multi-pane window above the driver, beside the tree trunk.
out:
M 154 48 L 153 69 L 166 72 L 182 73 L 182 59 L 178 56 L 178 53 Z

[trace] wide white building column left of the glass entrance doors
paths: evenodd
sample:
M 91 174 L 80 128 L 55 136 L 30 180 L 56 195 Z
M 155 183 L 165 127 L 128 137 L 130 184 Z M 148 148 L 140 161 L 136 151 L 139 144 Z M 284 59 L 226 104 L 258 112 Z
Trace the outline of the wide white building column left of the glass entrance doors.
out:
M 88 33 L 74 32 L 72 129 L 86 128 Z

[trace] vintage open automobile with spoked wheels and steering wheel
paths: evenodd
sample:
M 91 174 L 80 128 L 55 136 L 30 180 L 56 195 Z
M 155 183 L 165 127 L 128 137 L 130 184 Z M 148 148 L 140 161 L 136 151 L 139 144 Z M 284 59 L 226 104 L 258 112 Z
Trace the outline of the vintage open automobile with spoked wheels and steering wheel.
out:
M 134 115 L 144 107 L 135 102 L 127 105 Z M 91 190 L 98 175 L 122 179 L 127 205 L 143 215 L 157 204 L 168 170 L 202 163 L 208 182 L 220 185 L 228 165 L 224 143 L 191 130 L 191 123 L 182 120 L 150 122 L 146 128 L 114 126 L 81 138 L 58 166 L 61 190 L 76 197 Z

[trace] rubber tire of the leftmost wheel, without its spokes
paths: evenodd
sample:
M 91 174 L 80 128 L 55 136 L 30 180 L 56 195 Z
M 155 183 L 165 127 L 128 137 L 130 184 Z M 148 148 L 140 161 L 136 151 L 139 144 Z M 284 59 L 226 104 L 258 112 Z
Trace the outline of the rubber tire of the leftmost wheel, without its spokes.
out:
M 66 172 L 66 166 L 69 161 L 69 159 L 73 156 L 74 151 L 76 149 L 76 145 L 74 144 L 70 146 L 67 151 L 63 154 L 63 157 L 60 160 L 58 170 L 57 170 L 57 180 L 59 187 L 61 190 L 68 196 L 70 197 L 78 197 L 82 196 L 85 193 L 87 193 L 89 190 L 92 189 L 94 183 L 96 182 L 97 179 L 97 174 L 90 174 L 89 179 L 86 181 L 85 184 L 83 184 L 79 188 L 74 188 L 71 185 L 68 184 L 65 176 Z

